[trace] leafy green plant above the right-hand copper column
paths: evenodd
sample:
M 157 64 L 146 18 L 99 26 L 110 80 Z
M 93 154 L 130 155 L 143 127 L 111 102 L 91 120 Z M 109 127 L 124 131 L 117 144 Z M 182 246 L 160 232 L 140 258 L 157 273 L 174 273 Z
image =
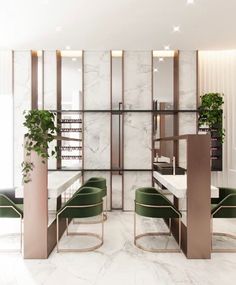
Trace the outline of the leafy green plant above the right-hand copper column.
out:
M 223 129 L 223 94 L 206 93 L 201 96 L 199 107 L 199 126 L 206 126 L 209 130 L 215 130 L 221 143 L 224 141 L 225 129 Z

